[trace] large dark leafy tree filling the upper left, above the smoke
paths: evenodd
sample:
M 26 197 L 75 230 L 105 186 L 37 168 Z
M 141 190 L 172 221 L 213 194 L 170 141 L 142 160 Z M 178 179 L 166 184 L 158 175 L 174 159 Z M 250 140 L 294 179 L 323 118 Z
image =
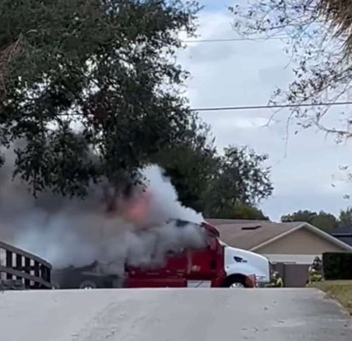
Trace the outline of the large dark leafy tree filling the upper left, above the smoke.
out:
M 34 194 L 83 197 L 92 181 L 138 179 L 151 155 L 180 144 L 194 115 L 173 55 L 178 33 L 194 34 L 198 9 L 180 0 L 3 0 L 0 147 L 25 140 L 15 176 Z

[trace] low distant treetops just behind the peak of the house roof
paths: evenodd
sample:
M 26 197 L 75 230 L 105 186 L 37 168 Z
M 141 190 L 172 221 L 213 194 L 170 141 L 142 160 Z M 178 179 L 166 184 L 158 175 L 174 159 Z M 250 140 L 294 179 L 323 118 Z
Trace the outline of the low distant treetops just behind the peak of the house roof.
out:
M 320 228 L 325 232 L 331 232 L 336 227 L 338 227 L 338 221 L 336 217 L 330 213 L 324 211 L 312 212 L 309 210 L 297 211 L 292 214 L 284 215 L 281 217 L 282 222 L 292 222 L 292 221 L 304 221 L 315 227 Z

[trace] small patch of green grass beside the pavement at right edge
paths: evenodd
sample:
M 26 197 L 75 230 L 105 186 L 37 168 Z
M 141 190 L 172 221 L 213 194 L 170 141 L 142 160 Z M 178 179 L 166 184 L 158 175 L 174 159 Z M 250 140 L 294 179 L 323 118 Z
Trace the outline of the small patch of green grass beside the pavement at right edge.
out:
M 352 280 L 314 282 L 311 287 L 324 291 L 329 298 L 338 301 L 352 315 Z

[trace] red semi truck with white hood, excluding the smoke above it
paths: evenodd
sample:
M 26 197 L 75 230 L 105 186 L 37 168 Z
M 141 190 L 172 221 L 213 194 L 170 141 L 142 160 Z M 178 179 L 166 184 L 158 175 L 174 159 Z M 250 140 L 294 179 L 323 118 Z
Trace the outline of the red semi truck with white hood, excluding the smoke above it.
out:
M 254 287 L 270 282 L 267 258 L 245 250 L 231 248 L 219 240 L 217 229 L 204 222 L 207 247 L 187 250 L 168 257 L 166 265 L 155 270 L 126 266 L 123 279 L 102 276 L 96 264 L 84 268 L 54 270 L 56 288 L 97 287 Z

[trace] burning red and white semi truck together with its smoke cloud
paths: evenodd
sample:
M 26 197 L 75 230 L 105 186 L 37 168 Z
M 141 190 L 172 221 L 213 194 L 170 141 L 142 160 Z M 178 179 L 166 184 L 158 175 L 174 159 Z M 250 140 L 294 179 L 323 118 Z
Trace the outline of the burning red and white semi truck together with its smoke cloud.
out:
M 269 261 L 224 245 L 215 227 L 184 207 L 157 166 L 146 186 L 99 183 L 84 200 L 34 199 L 11 168 L 0 168 L 0 217 L 13 244 L 52 266 L 54 286 L 252 287 L 270 281 Z M 14 205 L 16 203 L 16 205 Z

